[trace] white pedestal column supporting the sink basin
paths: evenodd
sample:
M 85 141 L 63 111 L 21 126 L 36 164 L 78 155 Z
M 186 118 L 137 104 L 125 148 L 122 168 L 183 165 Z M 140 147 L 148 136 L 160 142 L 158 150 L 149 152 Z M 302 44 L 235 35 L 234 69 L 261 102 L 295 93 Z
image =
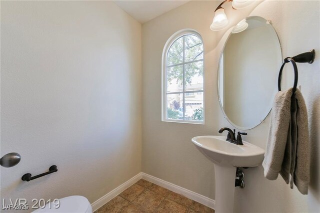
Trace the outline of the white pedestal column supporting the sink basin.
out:
M 215 213 L 233 213 L 236 168 L 214 164 Z

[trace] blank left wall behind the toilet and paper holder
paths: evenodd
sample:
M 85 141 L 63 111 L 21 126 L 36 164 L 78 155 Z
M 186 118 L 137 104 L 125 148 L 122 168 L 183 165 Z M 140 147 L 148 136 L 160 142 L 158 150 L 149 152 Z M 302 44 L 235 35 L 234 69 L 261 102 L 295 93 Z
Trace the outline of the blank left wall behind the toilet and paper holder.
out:
M 1 203 L 92 203 L 141 172 L 141 24 L 112 1 L 1 1 L 0 148 L 21 155 Z

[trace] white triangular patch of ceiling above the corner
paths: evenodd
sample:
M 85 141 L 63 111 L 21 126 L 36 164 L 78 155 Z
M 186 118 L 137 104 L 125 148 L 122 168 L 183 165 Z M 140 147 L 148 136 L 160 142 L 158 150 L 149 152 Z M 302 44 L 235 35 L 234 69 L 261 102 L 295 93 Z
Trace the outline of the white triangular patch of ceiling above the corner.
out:
M 113 0 L 140 23 L 144 23 L 189 0 Z

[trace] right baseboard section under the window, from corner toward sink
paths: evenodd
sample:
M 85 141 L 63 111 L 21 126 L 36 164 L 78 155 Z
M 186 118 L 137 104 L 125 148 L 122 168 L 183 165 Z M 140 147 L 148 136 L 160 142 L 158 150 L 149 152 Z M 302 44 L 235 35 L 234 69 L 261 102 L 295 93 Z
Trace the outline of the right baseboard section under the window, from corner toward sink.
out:
M 184 189 L 182 187 L 176 186 L 174 184 L 171 184 L 169 182 L 163 181 L 161 179 L 155 178 L 153 176 L 150 176 L 148 174 L 142 173 L 142 178 L 146 181 L 149 181 L 153 184 L 159 185 L 160 187 L 163 187 L 165 189 L 168 189 L 172 192 L 175 192 L 177 194 L 183 195 L 184 197 L 187 197 L 188 199 L 191 199 L 193 201 L 196 201 L 200 204 L 203 204 L 204 206 L 207 206 L 211 209 L 214 209 L 215 201 L 212 199 L 209 199 L 203 195 L 197 194 L 195 192 L 192 192 L 190 190 Z

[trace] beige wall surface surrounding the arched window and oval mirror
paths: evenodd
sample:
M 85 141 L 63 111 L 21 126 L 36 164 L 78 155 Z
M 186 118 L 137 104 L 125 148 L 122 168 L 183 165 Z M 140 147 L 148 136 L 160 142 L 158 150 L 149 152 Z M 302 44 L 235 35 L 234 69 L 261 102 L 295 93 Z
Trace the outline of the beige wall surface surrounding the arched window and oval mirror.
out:
M 217 135 L 231 127 L 223 118 L 216 91 L 216 71 L 227 31 L 209 29 L 220 1 L 191 1 L 142 25 L 142 172 L 215 199 L 214 168 L 191 143 L 198 135 Z M 228 4 L 228 3 L 227 3 Z M 245 170 L 245 188 L 235 190 L 235 212 L 318 212 L 320 209 L 320 55 L 319 1 L 263 1 L 242 10 L 225 4 L 229 27 L 250 15 L 271 20 L 278 33 L 282 56 L 316 50 L 313 64 L 298 64 L 299 85 L 309 116 L 311 182 L 302 196 L 279 177 L 268 181 L 263 168 Z M 256 7 L 255 7 L 256 6 Z M 252 11 L 253 10 L 253 11 Z M 251 12 L 252 11 L 252 12 Z M 204 43 L 205 125 L 161 122 L 161 54 L 166 40 L 183 28 L 197 30 Z M 279 64 L 280 66 L 280 64 Z M 291 68 L 288 66 L 288 68 Z M 270 70 L 278 72 L 278 70 Z M 284 72 L 290 72 L 286 69 Z M 293 81 L 291 81 L 293 82 Z M 284 89 L 284 88 L 283 88 Z M 265 147 L 269 116 L 246 131 L 247 140 Z M 226 135 L 226 133 L 223 133 Z

